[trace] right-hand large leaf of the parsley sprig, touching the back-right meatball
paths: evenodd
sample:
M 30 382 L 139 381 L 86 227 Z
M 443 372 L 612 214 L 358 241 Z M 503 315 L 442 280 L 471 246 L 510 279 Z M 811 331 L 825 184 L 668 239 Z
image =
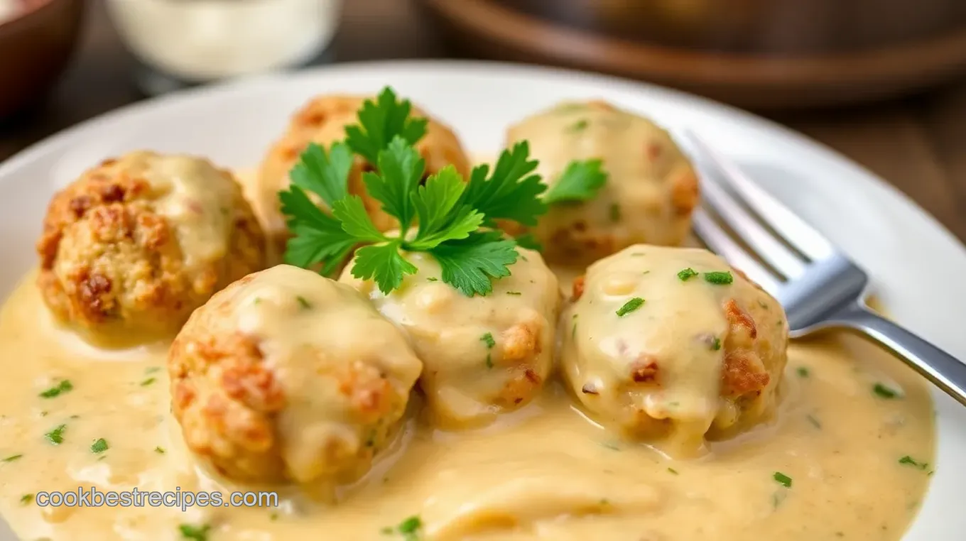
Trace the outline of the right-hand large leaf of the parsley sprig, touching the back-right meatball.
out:
M 489 165 L 474 167 L 461 203 L 485 215 L 487 223 L 511 219 L 536 225 L 537 216 L 547 212 L 547 205 L 538 197 L 547 186 L 539 175 L 532 174 L 537 161 L 529 154 L 529 144 L 521 141 L 499 155 L 492 175 Z

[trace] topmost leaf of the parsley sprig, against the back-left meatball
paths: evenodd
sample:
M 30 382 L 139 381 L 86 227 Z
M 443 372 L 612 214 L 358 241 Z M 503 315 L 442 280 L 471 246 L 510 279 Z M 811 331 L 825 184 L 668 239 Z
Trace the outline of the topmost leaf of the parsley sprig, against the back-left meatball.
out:
M 410 118 L 410 100 L 396 100 L 391 88 L 385 87 L 375 102 L 365 100 L 357 114 L 358 125 L 346 127 L 346 144 L 355 154 L 376 164 L 380 151 L 395 137 L 414 145 L 426 134 L 427 120 Z

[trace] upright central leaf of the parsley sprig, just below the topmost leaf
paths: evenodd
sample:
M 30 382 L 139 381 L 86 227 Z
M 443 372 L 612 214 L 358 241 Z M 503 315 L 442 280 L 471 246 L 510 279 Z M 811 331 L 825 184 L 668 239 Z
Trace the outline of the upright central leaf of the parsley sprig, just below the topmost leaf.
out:
M 403 236 L 412 224 L 411 194 L 422 180 L 426 161 L 402 137 L 395 137 L 379 152 L 379 174 L 362 174 L 369 195 L 383 203 L 386 214 L 399 219 Z

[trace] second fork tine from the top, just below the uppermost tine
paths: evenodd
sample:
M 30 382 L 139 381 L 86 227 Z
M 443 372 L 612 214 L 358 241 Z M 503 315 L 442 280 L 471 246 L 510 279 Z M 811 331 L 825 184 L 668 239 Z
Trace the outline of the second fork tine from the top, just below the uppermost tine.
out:
M 789 279 L 805 273 L 805 265 L 799 256 L 792 253 L 762 227 L 752 214 L 735 202 L 725 188 L 718 185 L 717 181 L 708 179 L 707 182 L 701 183 L 701 190 L 704 201 L 749 247 L 757 252 L 762 260 L 771 264 L 776 271 Z

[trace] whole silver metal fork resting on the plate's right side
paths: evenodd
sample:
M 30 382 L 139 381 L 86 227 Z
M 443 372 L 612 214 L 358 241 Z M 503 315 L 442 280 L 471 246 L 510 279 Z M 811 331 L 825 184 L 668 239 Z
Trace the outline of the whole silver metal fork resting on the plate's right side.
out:
M 697 236 L 779 299 L 792 338 L 833 328 L 862 333 L 966 406 L 966 364 L 872 312 L 865 271 L 694 132 L 688 136 L 699 162 L 718 172 L 703 176 L 704 203 L 771 270 L 703 209 L 694 215 Z

